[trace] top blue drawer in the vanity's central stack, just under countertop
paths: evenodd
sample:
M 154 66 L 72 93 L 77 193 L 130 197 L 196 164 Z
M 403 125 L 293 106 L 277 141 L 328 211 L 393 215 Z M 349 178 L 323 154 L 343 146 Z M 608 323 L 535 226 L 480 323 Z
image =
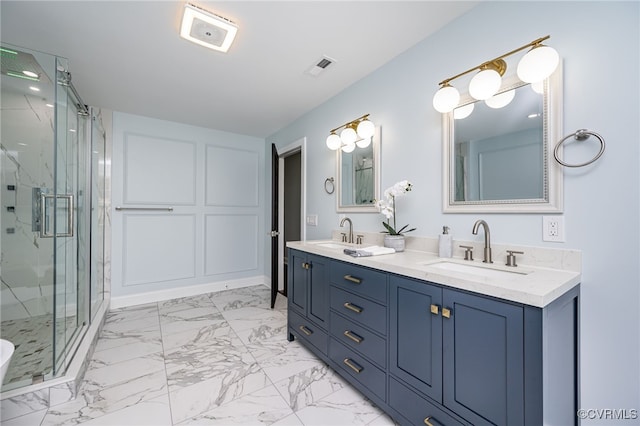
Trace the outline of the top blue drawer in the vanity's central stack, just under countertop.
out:
M 338 287 L 387 304 L 387 274 L 349 263 L 331 263 L 331 282 Z

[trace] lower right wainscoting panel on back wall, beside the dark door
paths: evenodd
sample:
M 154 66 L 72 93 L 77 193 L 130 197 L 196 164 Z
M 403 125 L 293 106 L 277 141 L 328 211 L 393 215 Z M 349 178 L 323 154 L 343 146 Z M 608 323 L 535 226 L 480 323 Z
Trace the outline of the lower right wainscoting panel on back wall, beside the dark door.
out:
M 205 216 L 205 275 L 250 271 L 258 267 L 258 216 Z

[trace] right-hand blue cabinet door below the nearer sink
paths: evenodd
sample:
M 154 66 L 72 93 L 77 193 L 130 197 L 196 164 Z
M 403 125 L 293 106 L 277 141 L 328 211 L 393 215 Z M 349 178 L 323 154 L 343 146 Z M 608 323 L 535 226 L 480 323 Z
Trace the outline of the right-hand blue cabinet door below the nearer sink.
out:
M 524 424 L 523 308 L 443 290 L 444 405 L 475 425 Z

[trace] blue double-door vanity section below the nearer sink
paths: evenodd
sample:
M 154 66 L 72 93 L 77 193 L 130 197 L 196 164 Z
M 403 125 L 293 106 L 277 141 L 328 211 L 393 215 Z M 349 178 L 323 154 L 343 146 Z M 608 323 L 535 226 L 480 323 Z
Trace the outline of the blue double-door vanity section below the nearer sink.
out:
M 524 424 L 521 305 L 391 276 L 390 306 L 389 373 L 451 412 L 429 401 L 407 411 L 410 392 L 397 381 L 393 408 L 444 424 L 456 415 L 475 425 Z

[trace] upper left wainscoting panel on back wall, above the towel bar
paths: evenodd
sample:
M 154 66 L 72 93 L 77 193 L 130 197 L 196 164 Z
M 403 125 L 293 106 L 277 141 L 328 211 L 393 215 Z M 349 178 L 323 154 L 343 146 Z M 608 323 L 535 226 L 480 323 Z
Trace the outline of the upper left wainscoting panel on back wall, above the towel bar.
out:
M 195 204 L 196 145 L 126 133 L 124 202 Z

